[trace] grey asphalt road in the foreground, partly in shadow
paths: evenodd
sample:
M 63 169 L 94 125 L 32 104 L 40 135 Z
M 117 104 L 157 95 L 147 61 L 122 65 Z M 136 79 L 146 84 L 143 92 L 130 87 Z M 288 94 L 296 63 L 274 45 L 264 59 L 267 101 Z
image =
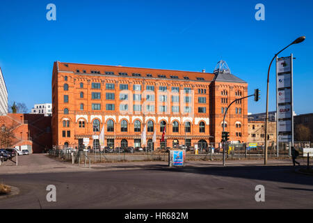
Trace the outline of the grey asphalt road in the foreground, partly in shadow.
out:
M 57 171 L 10 174 L 11 167 L 3 167 L 6 173 L 0 167 L 0 182 L 20 190 L 15 197 L 0 199 L 0 208 L 313 208 L 313 176 L 297 174 L 288 162 L 267 167 L 262 160 L 234 161 L 230 167 L 203 162 L 171 169 L 165 163 L 138 169 L 124 164 L 121 170 L 108 170 L 101 165 L 67 168 L 69 164 L 42 155 L 20 160 L 21 165 L 28 160 L 33 167 L 51 165 Z M 47 202 L 47 185 L 56 186 L 56 202 Z M 264 202 L 255 201 L 256 185 L 265 187 Z

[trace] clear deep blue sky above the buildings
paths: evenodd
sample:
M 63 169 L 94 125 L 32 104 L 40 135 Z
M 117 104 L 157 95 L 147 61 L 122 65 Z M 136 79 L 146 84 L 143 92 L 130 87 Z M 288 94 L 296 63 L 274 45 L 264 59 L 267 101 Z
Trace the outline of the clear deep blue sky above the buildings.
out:
M 56 6 L 48 21 L 47 4 Z M 257 3 L 265 20 L 256 20 Z M 294 54 L 294 112 L 313 112 L 313 1 L 0 1 L 0 67 L 9 102 L 51 102 L 54 61 L 213 72 L 226 61 L 232 74 L 260 89 L 248 112 L 265 112 L 269 63 L 299 36 Z M 275 63 L 269 111 L 275 110 Z

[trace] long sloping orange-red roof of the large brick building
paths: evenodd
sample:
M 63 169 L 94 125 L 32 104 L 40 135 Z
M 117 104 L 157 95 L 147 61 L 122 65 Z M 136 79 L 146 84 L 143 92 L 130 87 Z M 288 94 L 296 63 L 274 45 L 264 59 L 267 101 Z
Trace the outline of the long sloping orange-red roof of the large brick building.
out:
M 74 72 L 77 74 L 86 75 L 107 75 L 106 72 L 113 72 L 111 76 L 117 77 L 133 77 L 133 74 L 140 74 L 140 76 L 134 77 L 147 77 L 150 78 L 162 78 L 162 79 L 182 79 L 191 80 L 196 82 L 212 82 L 215 75 L 208 72 L 192 72 L 183 70 L 163 70 L 163 69 L 152 69 L 152 68 L 131 68 L 124 66 L 104 66 L 104 65 L 92 65 L 83 63 L 64 63 L 57 62 L 58 72 Z M 85 70 L 85 72 L 83 72 Z M 92 72 L 93 71 L 93 72 Z M 95 72 L 96 71 L 96 72 Z M 127 73 L 127 75 L 120 75 L 119 73 Z M 165 75 L 165 76 L 159 76 Z M 172 77 L 174 78 L 172 78 Z M 188 79 L 186 79 L 188 77 Z M 148 77 L 149 78 L 149 77 Z

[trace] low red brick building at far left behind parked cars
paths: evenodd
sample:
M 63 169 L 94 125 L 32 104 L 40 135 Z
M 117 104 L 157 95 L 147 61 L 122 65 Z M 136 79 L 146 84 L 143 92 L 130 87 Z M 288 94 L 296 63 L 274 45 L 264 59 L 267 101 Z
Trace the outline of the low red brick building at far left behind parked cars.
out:
M 43 114 L 7 114 L 0 116 L 1 131 L 13 128 L 10 145 L 2 144 L 1 148 L 28 146 L 31 153 L 42 153 L 51 148 L 51 116 Z M 2 131 L 3 132 L 3 131 Z M 2 134 L 0 134 L 0 138 Z M 2 143 L 0 141 L 0 143 Z

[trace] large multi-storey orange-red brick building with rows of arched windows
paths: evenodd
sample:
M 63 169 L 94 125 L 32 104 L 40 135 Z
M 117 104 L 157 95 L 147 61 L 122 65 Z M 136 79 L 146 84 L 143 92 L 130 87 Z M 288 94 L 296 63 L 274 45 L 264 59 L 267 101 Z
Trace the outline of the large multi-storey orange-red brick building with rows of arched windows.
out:
M 54 63 L 52 75 L 53 145 L 207 146 L 221 140 L 223 114 L 248 84 L 230 74 Z M 248 137 L 248 100 L 232 105 L 226 117 L 230 140 Z M 147 128 L 146 145 L 141 132 Z M 152 138 L 156 130 L 157 140 Z

